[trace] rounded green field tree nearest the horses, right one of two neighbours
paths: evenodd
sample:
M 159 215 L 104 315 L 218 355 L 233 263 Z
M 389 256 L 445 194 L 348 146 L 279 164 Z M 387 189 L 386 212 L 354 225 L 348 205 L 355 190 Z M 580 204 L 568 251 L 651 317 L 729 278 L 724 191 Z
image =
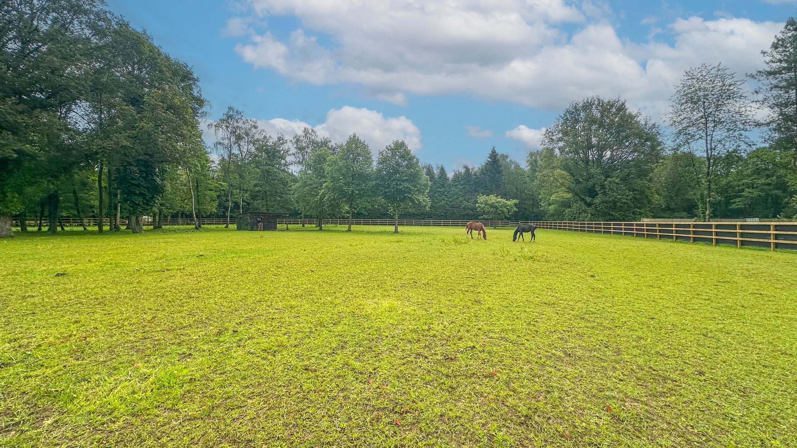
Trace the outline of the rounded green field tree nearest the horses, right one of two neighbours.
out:
M 398 234 L 398 214 L 429 210 L 429 178 L 404 141 L 394 141 L 379 151 L 375 179 L 379 195 L 395 217 L 393 233 Z

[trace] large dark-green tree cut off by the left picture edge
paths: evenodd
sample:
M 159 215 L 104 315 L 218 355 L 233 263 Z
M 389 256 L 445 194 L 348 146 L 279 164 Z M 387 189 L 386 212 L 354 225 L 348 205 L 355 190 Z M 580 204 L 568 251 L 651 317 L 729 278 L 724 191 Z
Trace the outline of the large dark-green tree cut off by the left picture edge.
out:
M 11 235 L 11 214 L 25 209 L 27 190 L 45 187 L 57 198 L 53 188 L 78 166 L 84 148 L 74 144 L 72 126 L 84 105 L 87 61 L 113 22 L 102 5 L 27 0 L 0 7 L 0 237 Z

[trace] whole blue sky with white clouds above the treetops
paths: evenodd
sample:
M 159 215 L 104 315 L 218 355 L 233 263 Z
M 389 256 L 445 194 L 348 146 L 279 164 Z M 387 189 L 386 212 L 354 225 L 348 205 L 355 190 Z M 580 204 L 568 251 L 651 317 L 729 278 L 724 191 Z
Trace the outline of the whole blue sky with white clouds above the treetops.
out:
M 332 4 L 335 7 L 332 7 Z M 797 2 L 735 0 L 109 0 L 194 67 L 210 119 L 232 105 L 271 133 L 404 139 L 449 170 L 490 147 L 523 163 L 571 100 L 622 96 L 661 120 L 701 62 L 761 65 Z

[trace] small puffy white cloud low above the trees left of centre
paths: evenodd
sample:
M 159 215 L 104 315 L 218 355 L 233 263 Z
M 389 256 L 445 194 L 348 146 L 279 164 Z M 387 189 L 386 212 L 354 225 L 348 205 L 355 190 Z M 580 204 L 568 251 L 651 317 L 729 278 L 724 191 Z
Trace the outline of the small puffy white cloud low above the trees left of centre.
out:
M 324 123 L 312 126 L 300 120 L 258 120 L 259 126 L 273 136 L 279 134 L 291 138 L 304 128 L 313 128 L 319 136 L 329 137 L 335 143 L 347 140 L 351 134 L 363 139 L 375 154 L 394 140 L 404 140 L 410 150 L 423 147 L 421 131 L 406 116 L 385 117 L 382 113 L 367 108 L 344 106 L 327 112 Z

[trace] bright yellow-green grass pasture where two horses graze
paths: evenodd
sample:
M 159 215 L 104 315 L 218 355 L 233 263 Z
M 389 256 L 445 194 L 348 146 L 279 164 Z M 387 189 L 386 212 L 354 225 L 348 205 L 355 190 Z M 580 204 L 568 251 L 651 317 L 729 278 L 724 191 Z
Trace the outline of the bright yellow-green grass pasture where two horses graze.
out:
M 797 446 L 797 253 L 344 230 L 0 241 L 0 446 Z

